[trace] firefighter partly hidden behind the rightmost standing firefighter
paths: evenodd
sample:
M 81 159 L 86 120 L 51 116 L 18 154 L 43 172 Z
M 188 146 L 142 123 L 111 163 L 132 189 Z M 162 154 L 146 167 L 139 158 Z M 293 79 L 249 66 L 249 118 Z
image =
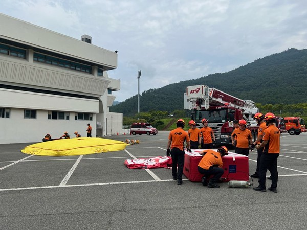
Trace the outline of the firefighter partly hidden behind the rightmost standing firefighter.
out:
M 264 136 L 264 131 L 267 128 L 266 122 L 264 121 L 264 114 L 257 112 L 254 116 L 254 119 L 256 119 L 259 128 L 258 128 L 258 136 L 256 141 L 253 142 L 252 146 L 250 147 L 250 150 L 253 151 L 255 146 L 260 144 L 262 142 L 262 137 Z M 260 166 L 260 159 L 262 152 L 264 151 L 263 148 L 257 149 L 257 167 L 256 167 L 256 172 L 251 175 L 251 177 L 254 178 L 259 178 L 259 166 Z

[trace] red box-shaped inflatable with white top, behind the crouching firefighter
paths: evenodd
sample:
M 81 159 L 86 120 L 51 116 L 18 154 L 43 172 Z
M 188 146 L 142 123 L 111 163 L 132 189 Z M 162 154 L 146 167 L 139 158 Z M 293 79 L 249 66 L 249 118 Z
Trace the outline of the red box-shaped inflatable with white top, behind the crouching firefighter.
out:
M 202 159 L 199 152 L 205 149 L 192 149 L 192 153 L 185 150 L 183 174 L 192 182 L 201 182 L 203 175 L 199 173 L 197 166 Z M 217 151 L 217 149 L 212 149 Z M 224 173 L 221 181 L 249 180 L 248 157 L 245 155 L 228 152 L 222 157 Z

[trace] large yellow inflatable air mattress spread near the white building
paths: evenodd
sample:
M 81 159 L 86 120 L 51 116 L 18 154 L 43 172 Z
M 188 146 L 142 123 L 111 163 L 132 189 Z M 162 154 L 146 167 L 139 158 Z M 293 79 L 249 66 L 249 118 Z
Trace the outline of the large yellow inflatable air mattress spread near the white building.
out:
M 103 138 L 81 137 L 41 142 L 20 150 L 25 154 L 38 156 L 76 156 L 102 152 L 120 151 L 126 143 Z

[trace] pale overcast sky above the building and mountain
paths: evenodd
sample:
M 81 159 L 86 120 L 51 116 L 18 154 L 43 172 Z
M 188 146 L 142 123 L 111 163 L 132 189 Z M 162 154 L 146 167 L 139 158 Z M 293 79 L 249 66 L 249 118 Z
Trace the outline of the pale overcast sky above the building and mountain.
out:
M 307 48 L 306 0 L 0 0 L 0 12 L 118 50 L 115 101 Z M 1 33 L 1 30 L 0 30 Z M 206 82 L 204 82 L 206 84 Z

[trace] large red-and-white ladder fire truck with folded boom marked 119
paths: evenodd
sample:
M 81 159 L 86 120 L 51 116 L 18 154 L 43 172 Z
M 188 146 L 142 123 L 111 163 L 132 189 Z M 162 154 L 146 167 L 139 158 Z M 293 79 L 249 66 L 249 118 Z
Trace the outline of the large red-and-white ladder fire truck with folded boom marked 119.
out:
M 185 109 L 192 110 L 191 120 L 203 126 L 203 118 L 208 119 L 216 145 L 230 145 L 233 132 L 233 120 L 245 119 L 251 130 L 253 141 L 257 139 L 257 122 L 253 119 L 258 108 L 253 101 L 241 100 L 207 85 L 188 86 L 185 93 Z

